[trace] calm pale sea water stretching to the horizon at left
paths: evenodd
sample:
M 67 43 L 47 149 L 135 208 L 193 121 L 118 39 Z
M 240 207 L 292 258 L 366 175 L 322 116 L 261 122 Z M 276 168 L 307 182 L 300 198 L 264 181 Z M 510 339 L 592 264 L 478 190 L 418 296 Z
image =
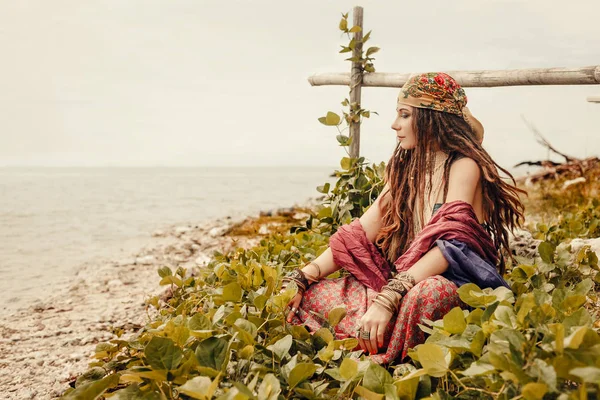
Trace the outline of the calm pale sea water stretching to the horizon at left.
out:
M 302 203 L 333 168 L 0 168 L 0 314 L 156 230 Z

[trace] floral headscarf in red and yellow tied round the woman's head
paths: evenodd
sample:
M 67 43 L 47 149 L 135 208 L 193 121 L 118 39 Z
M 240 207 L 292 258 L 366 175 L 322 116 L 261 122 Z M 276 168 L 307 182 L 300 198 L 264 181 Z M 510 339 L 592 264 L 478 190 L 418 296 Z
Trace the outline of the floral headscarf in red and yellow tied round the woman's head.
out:
M 479 143 L 483 125 L 467 108 L 467 95 L 454 78 L 443 72 L 426 72 L 412 76 L 400 89 L 398 104 L 460 115 L 471 126 Z

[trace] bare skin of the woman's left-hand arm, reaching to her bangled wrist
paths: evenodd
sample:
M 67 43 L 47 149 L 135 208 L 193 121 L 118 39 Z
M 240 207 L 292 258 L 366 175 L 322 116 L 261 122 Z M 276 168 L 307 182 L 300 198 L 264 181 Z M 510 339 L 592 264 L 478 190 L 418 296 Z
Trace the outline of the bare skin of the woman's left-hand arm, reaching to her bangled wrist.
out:
M 377 200 L 375 200 L 375 202 L 371 204 L 371 207 L 369 207 L 369 209 L 360 217 L 360 223 L 365 230 L 367 239 L 369 239 L 371 242 L 375 241 L 377 233 L 379 232 L 379 229 L 381 229 L 382 215 L 380 211 L 380 204 L 382 201 L 387 201 L 387 197 L 385 196 L 387 192 L 388 185 L 385 185 L 377 197 Z M 321 253 L 321 255 L 315 259 L 315 263 L 319 265 L 321 270 L 319 275 L 320 278 L 324 278 L 341 268 L 340 266 L 334 264 L 333 254 L 331 253 L 330 248 Z M 311 276 L 317 276 L 319 271 L 314 264 L 308 264 L 302 268 L 302 272 L 306 272 Z

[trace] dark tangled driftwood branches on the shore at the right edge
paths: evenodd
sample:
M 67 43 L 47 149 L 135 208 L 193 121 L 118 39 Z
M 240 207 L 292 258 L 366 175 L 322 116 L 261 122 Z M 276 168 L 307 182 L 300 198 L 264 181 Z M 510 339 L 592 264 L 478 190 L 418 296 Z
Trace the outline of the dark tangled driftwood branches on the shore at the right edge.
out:
M 539 144 L 546 147 L 549 151 L 563 157 L 565 161 L 563 163 L 558 163 L 551 160 L 522 161 L 516 164 L 514 167 L 516 168 L 522 165 L 535 165 L 542 167 L 542 170 L 533 174 L 524 175 L 516 178 L 517 183 L 534 183 L 544 179 L 558 179 L 559 177 L 563 176 L 573 179 L 575 177 L 582 177 L 585 174 L 585 171 L 587 170 L 590 170 L 592 168 L 600 168 L 600 159 L 598 159 L 598 157 L 588 157 L 585 159 L 579 159 L 573 156 L 566 155 L 558 151 L 554 146 L 552 146 L 548 139 L 546 139 L 531 123 L 529 123 L 525 119 L 524 121 L 529 126 L 529 129 L 532 130 Z

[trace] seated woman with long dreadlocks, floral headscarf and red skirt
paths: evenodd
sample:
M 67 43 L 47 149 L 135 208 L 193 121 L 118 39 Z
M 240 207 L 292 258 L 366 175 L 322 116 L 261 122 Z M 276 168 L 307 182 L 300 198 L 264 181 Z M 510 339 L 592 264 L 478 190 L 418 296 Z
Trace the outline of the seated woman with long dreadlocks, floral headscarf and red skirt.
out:
M 357 337 L 373 361 L 391 363 L 424 341 L 417 324 L 461 304 L 460 285 L 506 286 L 499 254 L 523 217 L 522 191 L 500 178 L 498 169 L 512 176 L 481 147 L 483 126 L 466 103 L 444 73 L 402 87 L 385 187 L 325 252 L 284 278 L 299 287 L 288 322 L 314 331 L 319 315 L 345 305 L 336 336 Z M 350 274 L 323 279 L 340 268 Z

